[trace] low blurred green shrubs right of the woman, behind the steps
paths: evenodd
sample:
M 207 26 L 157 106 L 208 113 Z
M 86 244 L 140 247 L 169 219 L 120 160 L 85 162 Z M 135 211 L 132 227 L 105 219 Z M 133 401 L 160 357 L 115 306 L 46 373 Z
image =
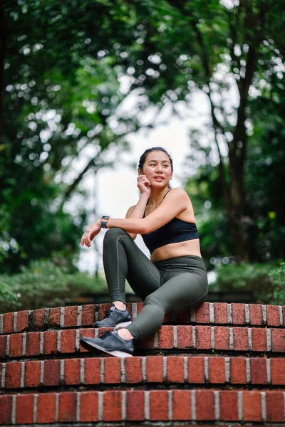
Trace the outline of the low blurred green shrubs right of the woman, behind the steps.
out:
M 272 264 L 219 264 L 212 290 L 252 291 L 261 304 L 284 305 L 285 263 L 279 268 Z

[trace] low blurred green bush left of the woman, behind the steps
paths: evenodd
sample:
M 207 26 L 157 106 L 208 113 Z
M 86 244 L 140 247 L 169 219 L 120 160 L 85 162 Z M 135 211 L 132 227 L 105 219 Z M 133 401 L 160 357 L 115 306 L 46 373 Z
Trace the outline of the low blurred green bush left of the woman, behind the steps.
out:
M 21 273 L 0 275 L 0 312 L 62 305 L 83 292 L 106 290 L 104 278 L 70 273 L 51 260 L 33 260 Z

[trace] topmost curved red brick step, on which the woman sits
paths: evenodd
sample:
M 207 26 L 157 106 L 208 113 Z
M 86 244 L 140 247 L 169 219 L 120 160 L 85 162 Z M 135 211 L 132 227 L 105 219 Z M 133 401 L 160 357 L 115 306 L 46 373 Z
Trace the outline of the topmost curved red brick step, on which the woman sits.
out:
M 142 310 L 143 303 L 129 302 L 127 307 L 133 318 Z M 0 334 L 92 327 L 93 322 L 102 319 L 104 311 L 109 308 L 110 304 L 92 304 L 4 313 L 0 315 Z M 164 323 L 284 327 L 285 305 L 204 302 L 189 312 L 165 315 Z

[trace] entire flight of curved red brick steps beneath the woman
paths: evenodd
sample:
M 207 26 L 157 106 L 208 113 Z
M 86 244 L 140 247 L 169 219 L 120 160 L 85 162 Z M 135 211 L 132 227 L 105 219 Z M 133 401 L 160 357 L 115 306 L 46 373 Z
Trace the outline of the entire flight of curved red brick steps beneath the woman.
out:
M 204 302 L 121 359 L 79 344 L 108 308 L 0 315 L 0 425 L 284 426 L 285 307 Z

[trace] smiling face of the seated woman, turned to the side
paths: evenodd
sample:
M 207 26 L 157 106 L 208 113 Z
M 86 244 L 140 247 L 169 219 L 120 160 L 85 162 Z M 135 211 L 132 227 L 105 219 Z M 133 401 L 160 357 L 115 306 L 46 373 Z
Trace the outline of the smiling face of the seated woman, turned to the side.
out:
M 139 174 L 147 176 L 152 186 L 166 186 L 172 179 L 170 158 L 162 151 L 150 152 Z

